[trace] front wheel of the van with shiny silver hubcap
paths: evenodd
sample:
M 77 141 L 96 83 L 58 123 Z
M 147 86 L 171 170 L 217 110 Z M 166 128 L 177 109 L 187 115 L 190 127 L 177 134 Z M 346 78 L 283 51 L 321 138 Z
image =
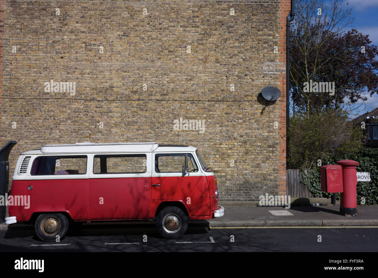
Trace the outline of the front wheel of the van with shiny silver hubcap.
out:
M 180 238 L 186 232 L 187 227 L 187 216 L 178 207 L 163 208 L 156 218 L 156 228 L 163 238 Z

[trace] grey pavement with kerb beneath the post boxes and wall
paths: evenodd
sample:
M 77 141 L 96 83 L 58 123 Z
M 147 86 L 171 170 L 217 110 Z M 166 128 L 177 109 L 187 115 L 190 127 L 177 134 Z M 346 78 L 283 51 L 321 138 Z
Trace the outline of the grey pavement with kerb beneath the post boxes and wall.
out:
M 315 206 L 313 205 L 315 204 Z M 260 207 L 258 202 L 219 202 L 225 208 L 225 215 L 209 220 L 189 221 L 189 224 L 209 225 L 210 227 L 270 227 L 270 226 L 377 226 L 378 205 L 358 205 L 357 216 L 348 217 L 340 214 L 340 203 L 292 204 L 289 209 L 282 206 Z M 323 204 L 323 205 L 321 205 Z M 289 215 L 282 215 L 290 213 Z M 125 224 L 154 224 L 151 221 L 128 221 Z M 109 224 L 109 222 L 92 222 L 92 224 Z M 83 225 L 87 225 L 84 223 Z M 11 224 L 10 229 L 33 228 L 33 225 L 22 223 Z M 8 230 L 8 225 L 0 224 L 0 230 Z

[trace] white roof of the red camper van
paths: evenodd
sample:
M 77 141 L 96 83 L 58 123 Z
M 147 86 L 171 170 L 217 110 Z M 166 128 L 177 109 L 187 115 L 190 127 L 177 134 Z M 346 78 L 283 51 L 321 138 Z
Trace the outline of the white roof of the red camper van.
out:
M 156 142 L 137 142 L 137 143 L 76 143 L 43 145 L 40 150 L 26 151 L 26 154 L 77 154 L 77 153 L 108 153 L 108 152 L 177 152 L 196 151 L 197 148 L 186 145 L 159 145 Z

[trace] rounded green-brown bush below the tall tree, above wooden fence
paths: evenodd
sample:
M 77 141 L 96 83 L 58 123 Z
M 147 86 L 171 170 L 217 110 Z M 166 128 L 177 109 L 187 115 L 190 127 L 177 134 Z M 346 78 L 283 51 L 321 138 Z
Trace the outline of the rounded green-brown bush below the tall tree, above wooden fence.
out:
M 318 160 L 357 154 L 363 148 L 363 132 L 342 110 L 323 110 L 295 115 L 290 120 L 290 167 L 312 168 Z

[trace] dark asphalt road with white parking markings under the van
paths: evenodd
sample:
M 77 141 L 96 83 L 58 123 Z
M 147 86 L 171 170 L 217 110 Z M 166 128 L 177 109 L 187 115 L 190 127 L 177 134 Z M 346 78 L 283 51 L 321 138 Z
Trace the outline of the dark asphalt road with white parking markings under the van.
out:
M 2 252 L 377 252 L 378 228 L 189 226 L 163 239 L 155 225 L 82 225 L 60 242 L 42 242 L 33 229 L 0 231 Z

